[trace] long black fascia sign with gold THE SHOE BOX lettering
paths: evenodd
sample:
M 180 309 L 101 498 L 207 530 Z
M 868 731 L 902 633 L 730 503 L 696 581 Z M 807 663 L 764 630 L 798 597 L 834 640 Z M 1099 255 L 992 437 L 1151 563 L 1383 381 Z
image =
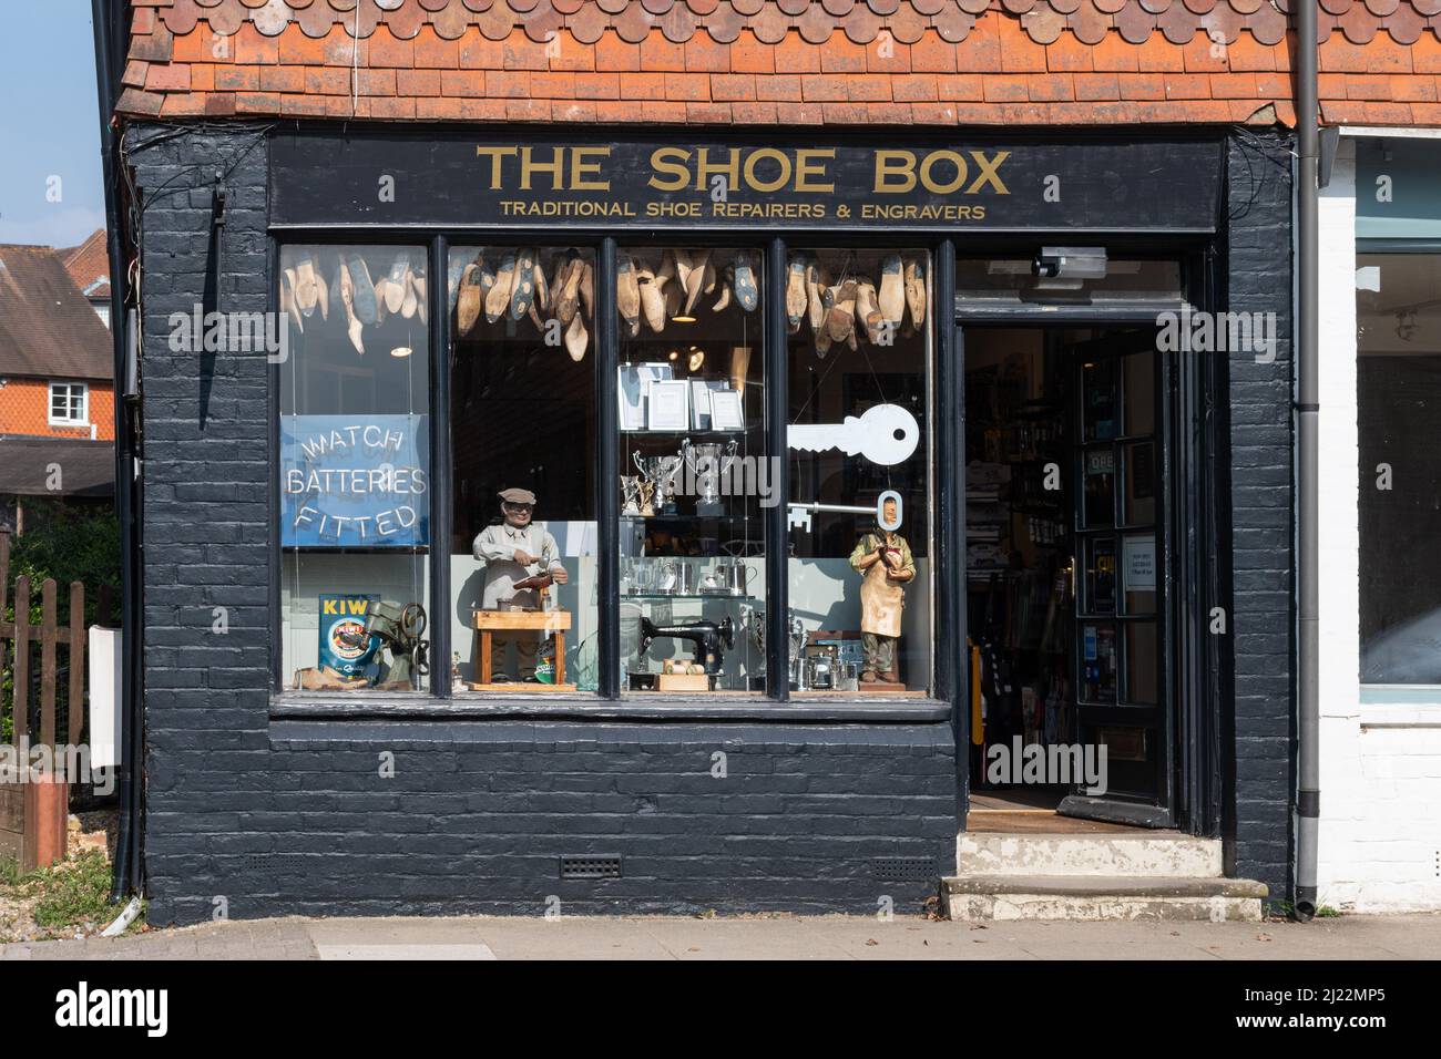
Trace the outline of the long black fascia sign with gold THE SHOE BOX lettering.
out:
M 1221 173 L 1215 140 L 788 146 L 295 131 L 271 141 L 271 219 L 1210 232 Z

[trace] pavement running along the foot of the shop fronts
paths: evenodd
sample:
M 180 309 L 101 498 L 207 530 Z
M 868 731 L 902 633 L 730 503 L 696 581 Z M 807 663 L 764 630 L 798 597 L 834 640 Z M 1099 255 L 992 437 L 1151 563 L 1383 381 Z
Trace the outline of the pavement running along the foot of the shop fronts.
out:
M 1301 925 L 898 916 L 252 919 L 0 945 L 0 960 L 1435 960 L 1441 913 Z

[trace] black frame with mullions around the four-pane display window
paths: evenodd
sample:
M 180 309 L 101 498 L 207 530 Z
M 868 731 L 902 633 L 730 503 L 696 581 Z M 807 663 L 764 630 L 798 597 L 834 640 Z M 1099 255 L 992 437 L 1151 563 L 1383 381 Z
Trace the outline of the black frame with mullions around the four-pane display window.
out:
M 712 702 L 695 703 L 666 697 L 664 702 L 637 702 L 634 696 L 625 696 L 620 664 L 620 496 L 618 490 L 608 488 L 607 483 L 614 477 L 614 467 L 620 451 L 618 411 L 617 411 L 617 379 L 615 366 L 620 353 L 620 331 L 617 329 L 615 311 L 615 259 L 618 246 L 657 249 L 683 242 L 690 246 L 749 246 L 764 256 L 764 295 L 762 295 L 762 341 L 765 354 L 765 454 L 778 455 L 781 481 L 777 483 L 778 496 L 790 496 L 790 467 L 788 450 L 784 442 L 784 424 L 790 414 L 788 402 L 788 333 L 785 323 L 785 259 L 788 248 L 804 249 L 915 249 L 929 255 L 932 277 L 931 295 L 932 311 L 928 318 L 929 339 L 929 395 L 928 415 L 934 437 L 928 441 L 928 470 L 927 481 L 929 490 L 929 524 L 927 539 L 929 546 L 929 578 L 925 588 L 931 598 L 931 666 L 928 674 L 928 694 L 922 699 L 906 699 L 895 702 L 876 702 L 863 693 L 855 699 L 837 697 L 834 702 L 806 702 L 791 703 L 790 686 L 785 680 L 772 680 L 767 692 L 736 699 L 718 707 Z M 478 715 L 487 718 L 497 716 L 617 716 L 618 713 L 635 716 L 686 716 L 697 719 L 703 715 L 725 715 L 735 718 L 757 719 L 794 719 L 794 716 L 813 718 L 817 720 L 878 720 L 905 719 L 916 722 L 922 719 L 945 719 L 951 716 L 950 702 L 954 697 L 955 664 L 951 656 L 955 651 L 947 645 L 957 638 L 960 628 L 961 598 L 947 585 L 951 581 L 950 568 L 955 556 L 964 556 L 964 549 L 955 545 L 947 546 L 942 536 L 955 527 L 947 526 L 944 511 L 953 504 L 948 499 L 964 496 L 958 488 L 964 470 L 951 467 L 950 473 L 942 468 L 957 461 L 942 463 L 948 454 L 958 451 L 955 441 L 947 442 L 942 434 L 957 431 L 960 414 L 960 383 L 961 372 L 947 369 L 944 357 L 950 356 L 954 333 L 954 242 L 934 232 L 844 232 L 836 229 L 824 231 L 793 231 L 793 229 L 706 229 L 706 231 L 676 231 L 676 229 L 644 229 L 627 231 L 621 233 L 607 233 L 594 228 L 576 226 L 565 229 L 533 229 L 533 228 L 477 228 L 477 229 L 357 229 L 357 228 L 311 228 L 287 226 L 272 229 L 268 238 L 268 277 L 267 304 L 271 313 L 280 311 L 280 288 L 277 277 L 280 274 L 281 252 L 287 246 L 321 245 L 321 246 L 376 246 L 376 245 L 414 245 L 425 246 L 428 254 L 428 268 L 432 277 L 445 277 L 452 246 L 494 246 L 533 243 L 537 246 L 576 246 L 595 255 L 595 341 L 592 344 L 597 399 L 597 444 L 595 461 L 598 473 L 595 517 L 597 517 L 597 607 L 598 607 L 598 635 L 597 651 L 599 661 L 598 684 L 594 692 L 556 693 L 546 696 L 517 696 L 488 692 L 452 692 L 450 660 L 452 657 L 451 644 L 451 576 L 448 549 L 452 536 L 452 464 L 450 451 L 451 438 L 451 385 L 450 385 L 450 340 L 451 324 L 448 313 L 448 291 L 441 282 L 428 284 L 429 298 L 429 377 L 431 377 L 431 563 L 429 563 L 429 596 L 432 601 L 429 614 L 429 640 L 432 676 L 429 687 L 424 692 L 401 693 L 366 693 L 362 699 L 356 694 L 324 694 L 291 692 L 285 682 L 282 644 L 278 635 L 269 637 L 269 669 L 272 713 L 277 716 L 356 716 L 380 713 L 393 716 L 396 712 L 419 710 L 429 716 L 427 710 L 444 707 L 445 716 Z M 772 354 L 772 350 L 778 353 Z M 280 366 L 268 366 L 269 377 L 269 464 L 278 467 L 280 460 Z M 954 392 L 951 392 L 954 390 Z M 777 431 L 775 424 L 782 429 Z M 269 475 L 269 611 L 271 628 L 278 630 L 281 621 L 281 556 L 280 535 L 277 532 L 280 517 L 280 478 Z M 954 481 L 951 481 L 954 478 Z M 764 530 L 767 542 L 767 614 L 784 614 L 790 602 L 788 592 L 788 563 L 772 562 L 772 556 L 784 556 L 787 527 L 785 503 L 775 504 L 764 511 Z M 447 542 L 445 553 L 441 555 L 435 542 Z M 951 596 L 957 596 L 951 599 Z M 444 614 L 441 609 L 444 608 Z M 954 612 L 953 612 L 954 611 Z M 964 638 L 964 631 L 960 633 Z M 767 669 L 771 673 L 787 671 L 788 644 L 785 637 L 785 622 L 767 622 Z M 455 713 L 460 709 L 461 713 Z M 782 712 L 777 712 L 781 709 Z

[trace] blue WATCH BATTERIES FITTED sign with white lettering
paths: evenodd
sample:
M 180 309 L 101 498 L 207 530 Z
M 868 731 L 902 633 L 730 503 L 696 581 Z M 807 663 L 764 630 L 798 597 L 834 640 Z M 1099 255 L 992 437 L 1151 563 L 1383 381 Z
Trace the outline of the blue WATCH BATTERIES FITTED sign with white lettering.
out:
M 291 415 L 280 426 L 281 545 L 429 545 L 424 415 Z

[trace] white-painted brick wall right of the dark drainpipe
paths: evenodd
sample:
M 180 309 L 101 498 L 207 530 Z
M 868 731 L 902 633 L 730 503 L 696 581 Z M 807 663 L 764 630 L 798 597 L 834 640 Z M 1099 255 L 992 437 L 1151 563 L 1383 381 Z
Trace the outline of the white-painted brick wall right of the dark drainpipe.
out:
M 1362 189 L 1365 193 L 1366 189 Z M 1356 432 L 1356 164 L 1342 140 L 1320 203 L 1320 902 L 1441 909 L 1437 705 L 1362 703 Z

